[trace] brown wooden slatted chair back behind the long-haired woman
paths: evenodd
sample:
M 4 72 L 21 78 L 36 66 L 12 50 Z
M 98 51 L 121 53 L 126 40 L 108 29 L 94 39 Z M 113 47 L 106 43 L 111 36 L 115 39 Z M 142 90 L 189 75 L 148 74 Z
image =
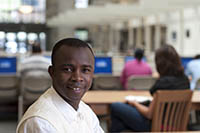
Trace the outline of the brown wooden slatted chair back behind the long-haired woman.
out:
M 151 131 L 186 131 L 192 91 L 157 91 L 155 95 Z

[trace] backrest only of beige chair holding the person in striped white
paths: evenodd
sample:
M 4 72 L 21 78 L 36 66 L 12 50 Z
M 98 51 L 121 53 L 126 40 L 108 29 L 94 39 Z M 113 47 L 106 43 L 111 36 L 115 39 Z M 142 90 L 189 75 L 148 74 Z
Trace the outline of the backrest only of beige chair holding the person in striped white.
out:
M 24 99 L 34 101 L 51 86 L 47 70 L 32 69 L 21 75 L 21 95 Z

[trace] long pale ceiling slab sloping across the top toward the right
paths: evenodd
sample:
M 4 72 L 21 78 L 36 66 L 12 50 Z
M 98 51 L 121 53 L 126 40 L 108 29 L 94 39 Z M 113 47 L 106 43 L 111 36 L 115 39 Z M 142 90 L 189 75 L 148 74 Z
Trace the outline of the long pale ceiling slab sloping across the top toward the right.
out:
M 60 12 L 48 19 L 47 24 L 56 27 L 106 25 L 198 6 L 200 0 L 120 0 L 118 3 L 90 5 L 88 8 Z

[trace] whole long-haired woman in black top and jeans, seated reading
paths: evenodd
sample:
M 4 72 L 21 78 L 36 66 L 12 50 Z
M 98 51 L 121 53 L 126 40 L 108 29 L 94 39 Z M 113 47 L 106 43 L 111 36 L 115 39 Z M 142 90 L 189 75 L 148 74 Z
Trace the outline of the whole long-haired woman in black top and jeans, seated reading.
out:
M 190 88 L 189 80 L 184 75 L 180 57 L 172 46 L 163 45 L 159 48 L 156 51 L 155 62 L 160 77 L 150 89 L 153 96 L 157 90 L 182 90 Z M 149 106 L 144 106 L 136 101 L 127 101 L 127 104 L 111 104 L 111 132 L 120 132 L 123 130 L 132 130 L 135 132 L 150 131 L 154 102 L 152 100 Z

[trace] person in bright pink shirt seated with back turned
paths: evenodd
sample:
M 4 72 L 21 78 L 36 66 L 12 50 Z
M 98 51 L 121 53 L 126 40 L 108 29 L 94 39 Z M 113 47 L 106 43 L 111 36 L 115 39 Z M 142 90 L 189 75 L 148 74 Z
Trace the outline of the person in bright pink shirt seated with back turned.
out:
M 142 60 L 144 56 L 144 50 L 139 48 L 136 49 L 134 56 L 135 60 L 128 61 L 125 64 L 120 76 L 120 81 L 125 89 L 127 88 L 127 81 L 130 76 L 152 75 L 151 67 Z

